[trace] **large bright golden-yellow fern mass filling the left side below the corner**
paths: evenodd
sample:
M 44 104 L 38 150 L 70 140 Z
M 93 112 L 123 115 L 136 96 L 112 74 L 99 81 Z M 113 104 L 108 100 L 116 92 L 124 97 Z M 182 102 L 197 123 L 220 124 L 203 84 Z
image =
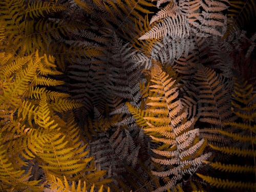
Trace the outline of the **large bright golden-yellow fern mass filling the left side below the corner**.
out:
M 9 153 L 9 164 L 4 164 L 7 160 L 3 156 L 1 168 L 10 172 L 10 176 L 3 176 L 1 181 L 6 190 L 12 187 L 13 190 L 20 187 L 38 190 L 38 187 L 43 187 L 46 178 L 33 182 L 27 179 L 35 165 L 42 168 L 42 176 L 52 174 L 83 179 L 89 186 L 109 182 L 99 181 L 104 171 L 89 174 L 94 167 L 93 158 L 88 157 L 89 152 L 85 150 L 87 145 L 82 144 L 74 121 L 65 130 L 67 125 L 58 115 L 79 107 L 80 103 L 68 99 L 67 94 L 44 88 L 63 83 L 47 77 L 61 74 L 53 62 L 53 57 L 39 56 L 38 52 L 21 58 L 1 54 L 0 132 L 4 141 L 3 154 Z M 75 134 L 69 136 L 69 132 Z M 11 170 L 17 170 L 16 181 L 10 181 L 9 177 L 14 174 Z

